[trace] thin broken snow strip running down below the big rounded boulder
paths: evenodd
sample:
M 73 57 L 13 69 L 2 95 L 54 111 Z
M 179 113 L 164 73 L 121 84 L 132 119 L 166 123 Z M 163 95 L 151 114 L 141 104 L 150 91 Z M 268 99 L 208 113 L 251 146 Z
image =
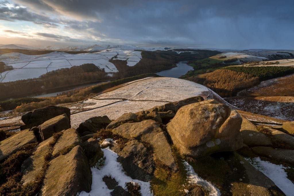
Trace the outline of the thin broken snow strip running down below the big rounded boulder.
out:
M 220 196 L 220 190 L 216 188 L 211 182 L 208 182 L 195 173 L 193 167 L 185 160 L 183 160 L 183 164 L 187 170 L 188 181 L 191 184 L 196 184 L 202 186 L 204 189 L 209 191 L 210 196 Z

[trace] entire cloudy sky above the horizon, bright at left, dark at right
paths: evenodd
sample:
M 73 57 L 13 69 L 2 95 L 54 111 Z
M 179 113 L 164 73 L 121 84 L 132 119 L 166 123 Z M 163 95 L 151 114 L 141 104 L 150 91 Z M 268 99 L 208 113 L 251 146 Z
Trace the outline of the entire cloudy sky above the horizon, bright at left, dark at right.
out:
M 294 49 L 293 0 L 0 0 L 0 44 Z

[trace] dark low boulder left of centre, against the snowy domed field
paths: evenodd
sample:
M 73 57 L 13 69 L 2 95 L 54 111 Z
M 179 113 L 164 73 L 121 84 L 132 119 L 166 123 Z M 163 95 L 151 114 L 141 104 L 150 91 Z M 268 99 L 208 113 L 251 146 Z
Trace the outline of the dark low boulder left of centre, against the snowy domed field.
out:
M 111 120 L 107 116 L 95 116 L 82 122 L 79 125 L 77 131 L 80 135 L 86 131 L 96 133 L 100 129 L 106 128 L 110 122 Z

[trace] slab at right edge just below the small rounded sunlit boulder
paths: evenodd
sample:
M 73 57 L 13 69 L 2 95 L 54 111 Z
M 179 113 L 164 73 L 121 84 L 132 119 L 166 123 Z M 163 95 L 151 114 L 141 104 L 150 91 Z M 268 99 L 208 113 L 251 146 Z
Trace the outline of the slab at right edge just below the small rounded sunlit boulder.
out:
M 294 150 L 294 137 L 290 136 L 288 134 L 285 134 L 282 131 L 266 128 L 268 131 L 270 131 L 270 138 L 272 139 L 273 143 L 275 143 L 276 146 L 279 146 L 280 148 L 287 148 Z

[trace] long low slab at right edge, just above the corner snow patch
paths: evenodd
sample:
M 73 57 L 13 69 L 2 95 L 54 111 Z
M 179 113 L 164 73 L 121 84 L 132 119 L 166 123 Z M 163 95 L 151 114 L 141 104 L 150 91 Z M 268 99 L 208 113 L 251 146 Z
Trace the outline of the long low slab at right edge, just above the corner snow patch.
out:
M 252 150 L 260 156 L 268 157 L 270 159 L 285 163 L 294 164 L 294 150 L 264 146 L 253 147 Z

